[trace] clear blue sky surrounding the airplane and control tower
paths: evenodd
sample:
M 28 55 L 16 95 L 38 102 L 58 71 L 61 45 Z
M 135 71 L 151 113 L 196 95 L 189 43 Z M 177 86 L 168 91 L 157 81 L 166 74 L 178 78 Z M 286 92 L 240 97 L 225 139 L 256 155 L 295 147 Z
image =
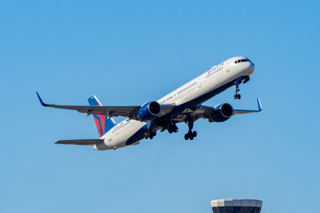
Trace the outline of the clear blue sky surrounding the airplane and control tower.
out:
M 0 212 L 211 212 L 213 198 L 262 212 L 314 211 L 319 187 L 318 1 L 6 1 L 0 6 Z M 92 117 L 42 107 L 141 104 L 237 55 L 251 80 L 205 104 L 263 111 L 116 151 Z M 120 120 L 120 117 L 117 119 Z

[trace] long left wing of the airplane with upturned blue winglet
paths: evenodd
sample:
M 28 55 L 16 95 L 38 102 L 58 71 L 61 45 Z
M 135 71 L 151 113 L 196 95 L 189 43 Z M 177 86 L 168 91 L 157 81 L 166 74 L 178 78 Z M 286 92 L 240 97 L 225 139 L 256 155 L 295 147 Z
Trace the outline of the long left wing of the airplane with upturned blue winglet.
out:
M 72 109 L 81 113 L 86 113 L 86 116 L 90 114 L 101 114 L 107 115 L 108 117 L 112 116 L 124 116 L 131 119 L 137 119 L 136 114 L 140 108 L 140 105 L 131 105 L 131 106 L 89 106 L 89 105 L 55 105 L 55 104 L 46 104 L 40 97 L 39 93 L 36 92 L 40 103 L 42 106 L 52 107 L 52 108 L 63 108 L 63 109 Z M 161 112 L 158 116 L 163 116 L 172 110 L 174 105 L 172 104 L 161 104 Z

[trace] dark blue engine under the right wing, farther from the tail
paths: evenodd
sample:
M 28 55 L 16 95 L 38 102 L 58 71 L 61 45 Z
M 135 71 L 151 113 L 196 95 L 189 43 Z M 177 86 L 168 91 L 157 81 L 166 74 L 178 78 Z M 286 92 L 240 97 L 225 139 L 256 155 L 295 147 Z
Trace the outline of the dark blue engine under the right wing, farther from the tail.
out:
M 221 103 L 213 107 L 209 122 L 223 122 L 233 114 L 233 107 L 229 103 Z

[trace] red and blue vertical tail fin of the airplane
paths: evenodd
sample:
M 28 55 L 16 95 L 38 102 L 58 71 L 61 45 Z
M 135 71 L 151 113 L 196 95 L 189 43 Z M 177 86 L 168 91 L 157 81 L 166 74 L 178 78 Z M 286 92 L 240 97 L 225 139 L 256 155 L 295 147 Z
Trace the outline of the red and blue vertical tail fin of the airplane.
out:
M 88 98 L 88 102 L 90 106 L 101 106 L 100 101 L 94 95 Z M 100 137 L 116 125 L 116 122 L 113 120 L 112 117 L 108 118 L 106 115 L 100 114 L 92 115 Z

